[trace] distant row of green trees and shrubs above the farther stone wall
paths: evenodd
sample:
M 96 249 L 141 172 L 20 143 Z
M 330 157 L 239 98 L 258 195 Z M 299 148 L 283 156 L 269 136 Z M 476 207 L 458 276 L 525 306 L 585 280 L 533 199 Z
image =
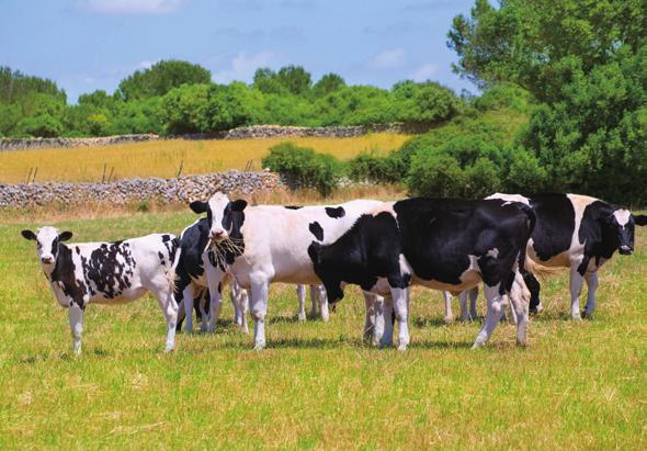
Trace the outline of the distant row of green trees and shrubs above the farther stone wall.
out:
M 0 68 L 0 136 L 106 136 L 213 133 L 242 125 L 433 124 L 455 116 L 461 99 L 436 82 L 402 81 L 390 90 L 347 86 L 303 67 L 257 70 L 253 82 L 218 84 L 185 61 L 159 61 L 67 103 L 56 83 Z

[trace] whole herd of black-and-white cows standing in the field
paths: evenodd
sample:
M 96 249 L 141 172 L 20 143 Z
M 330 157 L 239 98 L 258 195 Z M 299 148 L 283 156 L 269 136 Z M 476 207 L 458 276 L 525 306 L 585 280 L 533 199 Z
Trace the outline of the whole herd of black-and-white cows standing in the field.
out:
M 364 294 L 363 336 L 382 347 L 409 343 L 410 287 L 458 295 L 462 317 L 475 318 L 477 286 L 487 302 L 484 325 L 474 347 L 484 346 L 506 307 L 517 323 L 517 340 L 527 342 L 530 312 L 542 309 L 537 274 L 570 270 L 571 317 L 595 308 L 598 270 L 617 250 L 634 250 L 634 227 L 647 216 L 577 194 L 493 194 L 466 201 L 415 198 L 397 202 L 355 200 L 340 205 L 248 205 L 224 193 L 192 202 L 204 215 L 180 237 L 154 234 L 116 243 L 66 244 L 72 234 L 54 227 L 23 230 L 36 241 L 43 271 L 58 303 L 69 308 L 72 350 L 81 351 L 83 312 L 90 303 L 117 304 L 151 293 L 162 309 L 166 350 L 185 322 L 193 330 L 193 311 L 202 329 L 213 331 L 224 287 L 231 286 L 235 323 L 247 332 L 254 323 L 256 349 L 265 347 L 269 285 L 297 285 L 300 320 L 305 285 L 313 312 L 328 320 L 348 284 Z M 469 313 L 467 297 L 470 297 Z

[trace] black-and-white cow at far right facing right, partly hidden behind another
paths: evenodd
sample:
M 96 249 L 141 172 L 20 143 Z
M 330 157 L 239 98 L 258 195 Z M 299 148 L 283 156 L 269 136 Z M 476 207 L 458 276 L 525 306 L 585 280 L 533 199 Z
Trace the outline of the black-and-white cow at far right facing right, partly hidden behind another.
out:
M 583 316 L 595 309 L 598 270 L 615 251 L 634 251 L 634 227 L 647 224 L 647 216 L 634 215 L 625 207 L 600 199 L 579 194 L 519 194 L 496 193 L 488 199 L 501 199 L 530 205 L 537 218 L 527 244 L 532 261 L 550 268 L 570 268 L 570 314 L 581 319 L 579 298 L 587 282 L 587 305 Z M 542 309 L 540 282 L 525 277 L 531 292 L 531 311 Z

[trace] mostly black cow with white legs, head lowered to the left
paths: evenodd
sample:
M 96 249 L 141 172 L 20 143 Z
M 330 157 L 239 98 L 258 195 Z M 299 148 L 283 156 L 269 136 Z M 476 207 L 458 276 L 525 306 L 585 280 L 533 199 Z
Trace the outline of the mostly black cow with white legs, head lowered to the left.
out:
M 517 339 L 525 343 L 527 292 L 519 269 L 533 226 L 525 205 L 417 198 L 384 203 L 331 244 L 313 240 L 308 251 L 329 302 L 343 297 L 344 283 L 390 292 L 401 350 L 409 343 L 406 289 L 411 284 L 458 293 L 483 281 L 488 314 L 474 347 L 490 337 L 507 294 L 519 319 Z M 386 305 L 383 346 L 393 343 L 390 312 Z

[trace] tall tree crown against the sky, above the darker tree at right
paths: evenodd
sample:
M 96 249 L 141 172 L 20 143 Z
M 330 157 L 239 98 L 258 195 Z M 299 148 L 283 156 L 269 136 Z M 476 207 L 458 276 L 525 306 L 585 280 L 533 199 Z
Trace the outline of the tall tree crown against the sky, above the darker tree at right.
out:
M 568 77 L 565 58 L 577 57 L 588 74 L 623 46 L 637 52 L 646 36 L 644 0 L 501 0 L 499 8 L 476 0 L 469 18 L 454 18 L 447 45 L 459 57 L 454 70 L 480 87 L 512 82 L 552 101 L 552 87 Z

